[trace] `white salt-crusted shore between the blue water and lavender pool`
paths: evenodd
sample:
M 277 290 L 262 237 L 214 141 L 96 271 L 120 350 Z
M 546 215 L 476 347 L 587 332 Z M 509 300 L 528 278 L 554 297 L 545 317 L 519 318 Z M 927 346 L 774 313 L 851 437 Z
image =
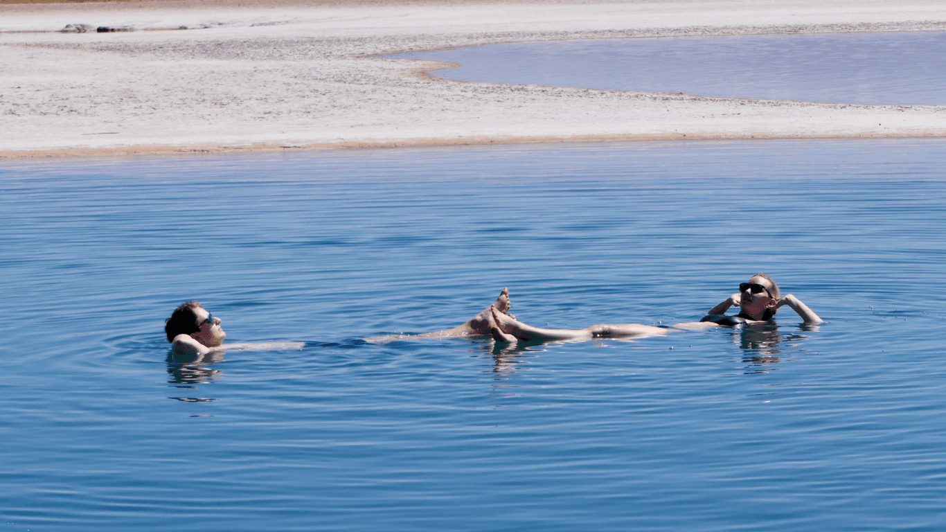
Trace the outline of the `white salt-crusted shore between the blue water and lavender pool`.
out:
M 134 31 L 60 31 L 70 24 Z M 3 4 L 0 157 L 944 136 L 944 106 L 466 83 L 426 74 L 447 64 L 377 57 L 500 42 L 918 30 L 946 30 L 946 3 Z

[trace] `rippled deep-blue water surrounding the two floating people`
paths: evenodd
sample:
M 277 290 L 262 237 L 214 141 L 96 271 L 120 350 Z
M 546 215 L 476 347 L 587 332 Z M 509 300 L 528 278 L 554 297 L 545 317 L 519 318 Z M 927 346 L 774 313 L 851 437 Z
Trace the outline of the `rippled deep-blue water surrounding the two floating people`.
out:
M 946 142 L 0 163 L 0 530 L 937 530 Z M 766 272 L 827 323 L 698 319 Z M 166 364 L 185 299 L 228 342 Z

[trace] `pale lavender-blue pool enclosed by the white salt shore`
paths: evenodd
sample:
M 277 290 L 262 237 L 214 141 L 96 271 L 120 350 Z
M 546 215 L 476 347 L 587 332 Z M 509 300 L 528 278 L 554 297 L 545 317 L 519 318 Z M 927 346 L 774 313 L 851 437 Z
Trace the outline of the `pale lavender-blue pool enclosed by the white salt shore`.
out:
M 835 33 L 491 44 L 400 58 L 450 80 L 834 103 L 946 104 L 946 33 Z

